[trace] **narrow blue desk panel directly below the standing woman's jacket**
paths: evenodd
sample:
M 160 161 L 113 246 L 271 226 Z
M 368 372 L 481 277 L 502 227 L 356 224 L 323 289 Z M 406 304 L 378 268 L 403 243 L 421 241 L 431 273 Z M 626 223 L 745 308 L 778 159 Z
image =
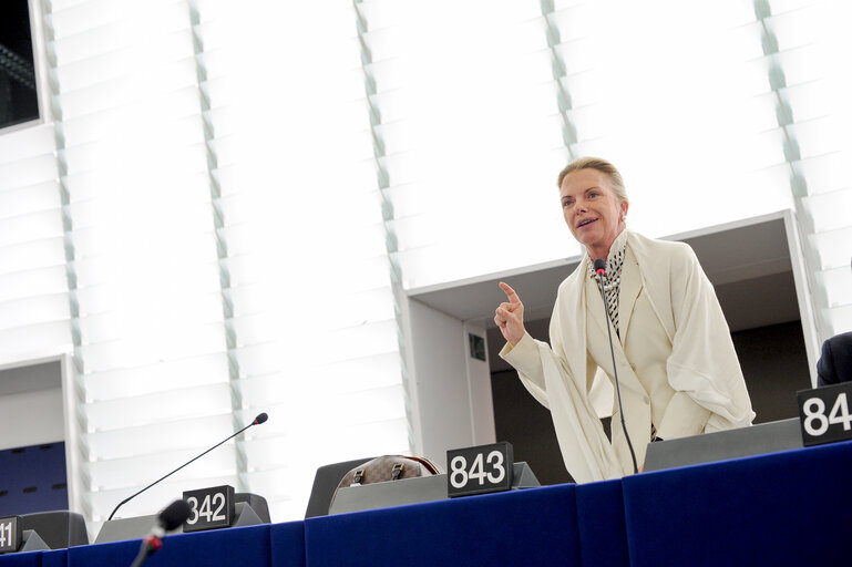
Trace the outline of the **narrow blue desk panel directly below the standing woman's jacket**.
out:
M 577 525 L 584 566 L 630 565 L 620 480 L 577 486 Z

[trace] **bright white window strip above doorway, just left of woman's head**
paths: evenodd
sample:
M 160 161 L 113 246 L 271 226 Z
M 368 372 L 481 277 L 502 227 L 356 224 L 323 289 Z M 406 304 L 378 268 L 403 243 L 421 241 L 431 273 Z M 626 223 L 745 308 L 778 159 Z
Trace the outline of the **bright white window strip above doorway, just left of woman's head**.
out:
M 547 205 L 571 113 L 554 94 L 560 72 L 541 32 L 541 2 L 362 6 L 374 17 L 370 47 L 404 288 L 564 255 L 564 224 Z M 481 237 L 506 208 L 521 220 L 520 238 Z

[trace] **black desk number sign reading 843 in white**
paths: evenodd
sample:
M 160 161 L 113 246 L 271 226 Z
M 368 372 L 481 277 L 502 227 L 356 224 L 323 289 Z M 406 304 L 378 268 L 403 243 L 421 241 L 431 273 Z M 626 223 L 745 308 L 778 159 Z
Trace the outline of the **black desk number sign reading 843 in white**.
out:
M 506 442 L 446 452 L 446 494 L 469 496 L 512 487 L 514 456 Z

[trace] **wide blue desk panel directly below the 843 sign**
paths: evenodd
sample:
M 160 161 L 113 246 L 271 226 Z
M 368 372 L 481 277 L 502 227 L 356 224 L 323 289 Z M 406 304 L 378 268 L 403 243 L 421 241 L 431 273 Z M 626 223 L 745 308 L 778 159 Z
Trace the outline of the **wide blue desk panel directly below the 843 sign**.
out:
M 305 520 L 308 567 L 579 566 L 575 486 Z

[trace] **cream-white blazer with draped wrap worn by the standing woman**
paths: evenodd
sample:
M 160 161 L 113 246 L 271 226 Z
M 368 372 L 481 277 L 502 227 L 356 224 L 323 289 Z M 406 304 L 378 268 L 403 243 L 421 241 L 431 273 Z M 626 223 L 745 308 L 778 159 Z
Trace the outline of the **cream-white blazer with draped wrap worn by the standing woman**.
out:
M 597 369 L 610 380 L 613 369 L 603 300 L 586 261 L 560 286 L 551 346 L 525 334 L 501 351 L 551 410 L 565 466 L 578 483 L 633 472 L 617 408 L 610 444 L 588 395 Z M 628 231 L 618 311 L 616 364 L 638 464 L 651 425 L 660 437 L 675 439 L 751 423 L 728 324 L 688 245 Z

